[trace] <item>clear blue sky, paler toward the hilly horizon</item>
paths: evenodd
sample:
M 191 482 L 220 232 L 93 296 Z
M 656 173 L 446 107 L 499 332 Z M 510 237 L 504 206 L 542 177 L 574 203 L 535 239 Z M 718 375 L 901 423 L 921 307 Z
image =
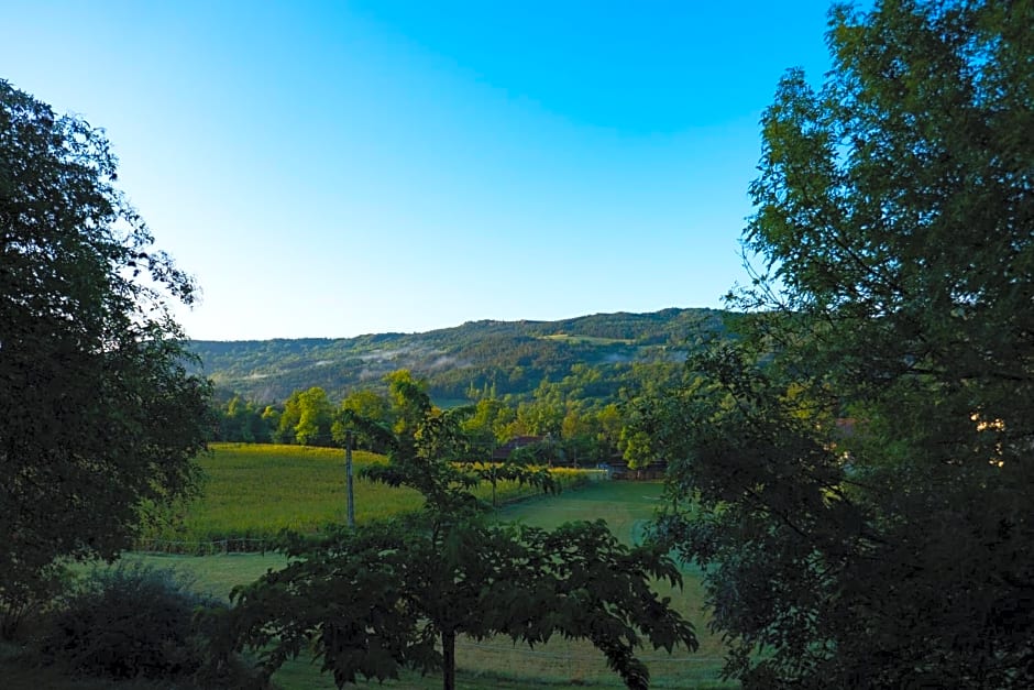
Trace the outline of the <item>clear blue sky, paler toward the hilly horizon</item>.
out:
M 827 7 L 4 0 L 0 77 L 107 130 L 194 338 L 719 307 Z

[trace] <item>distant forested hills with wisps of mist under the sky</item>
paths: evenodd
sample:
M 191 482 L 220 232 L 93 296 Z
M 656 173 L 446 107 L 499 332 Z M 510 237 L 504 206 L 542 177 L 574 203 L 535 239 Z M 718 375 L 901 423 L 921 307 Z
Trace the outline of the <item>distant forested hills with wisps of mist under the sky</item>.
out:
M 258 403 L 320 386 L 332 399 L 371 387 L 384 374 L 409 369 L 427 379 L 439 404 L 494 394 L 521 399 L 546 380 L 558 382 L 582 365 L 585 397 L 606 397 L 637 364 L 676 362 L 700 338 L 723 336 L 726 313 L 663 309 L 649 314 L 595 314 L 560 321 L 470 321 L 426 333 L 358 338 L 304 338 L 190 343 L 221 396 Z

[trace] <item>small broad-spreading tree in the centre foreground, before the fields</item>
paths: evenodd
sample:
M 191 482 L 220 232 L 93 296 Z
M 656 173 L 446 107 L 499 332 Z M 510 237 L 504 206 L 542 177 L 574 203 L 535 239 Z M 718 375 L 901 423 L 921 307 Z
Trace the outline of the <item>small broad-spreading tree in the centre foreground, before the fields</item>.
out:
M 590 639 L 629 688 L 649 671 L 636 648 L 696 647 L 693 629 L 650 587 L 681 584 L 659 546 L 627 547 L 602 522 L 554 532 L 492 524 L 470 490 L 483 468 L 468 458 L 463 410 L 430 405 L 420 382 L 393 376 L 397 407 L 424 409 L 399 427 L 391 462 L 371 479 L 420 491 L 417 519 L 289 537 L 290 563 L 234 591 L 226 650 L 262 650 L 267 672 L 315 648 L 341 687 L 396 677 L 400 667 L 441 668 L 455 686 L 459 635 L 507 635 L 529 645 L 552 635 Z M 549 474 L 517 468 L 512 479 L 551 486 Z M 436 644 L 440 645 L 438 651 Z

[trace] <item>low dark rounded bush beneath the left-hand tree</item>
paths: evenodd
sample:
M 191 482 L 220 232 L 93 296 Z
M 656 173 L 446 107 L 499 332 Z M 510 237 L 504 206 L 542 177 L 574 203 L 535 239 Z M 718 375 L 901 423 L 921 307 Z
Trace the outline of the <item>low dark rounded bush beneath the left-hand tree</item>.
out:
M 226 604 L 188 585 L 174 571 L 141 565 L 95 569 L 52 614 L 43 658 L 87 676 L 193 677 L 209 661 L 195 613 Z

